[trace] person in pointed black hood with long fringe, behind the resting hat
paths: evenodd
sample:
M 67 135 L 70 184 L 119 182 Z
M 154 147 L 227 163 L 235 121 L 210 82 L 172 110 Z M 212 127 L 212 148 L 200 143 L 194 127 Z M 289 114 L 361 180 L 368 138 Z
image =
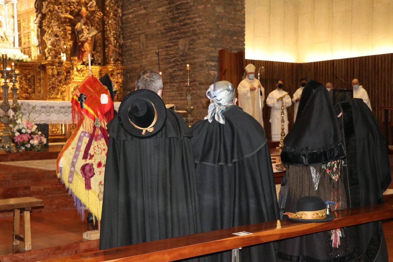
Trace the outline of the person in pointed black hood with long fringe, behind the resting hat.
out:
M 298 200 L 308 196 L 333 202 L 332 211 L 349 208 L 344 142 L 329 93 L 321 83 L 309 80 L 304 88 L 296 122 L 284 139 L 281 161 L 287 170 L 279 193 L 280 212 L 296 213 Z M 341 262 L 355 258 L 348 228 L 281 240 L 277 251 L 278 261 Z

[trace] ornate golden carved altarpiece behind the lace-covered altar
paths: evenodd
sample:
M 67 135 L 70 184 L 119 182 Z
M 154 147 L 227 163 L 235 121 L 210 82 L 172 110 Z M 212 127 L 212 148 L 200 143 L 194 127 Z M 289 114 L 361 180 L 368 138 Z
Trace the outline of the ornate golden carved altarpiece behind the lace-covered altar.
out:
M 16 10 L 2 8 L 3 13 L 11 13 L 9 19 L 17 17 L 18 33 L 12 39 L 31 57 L 17 63 L 18 99 L 70 101 L 72 90 L 88 73 L 88 54 L 93 74 L 108 73 L 118 90 L 115 100 L 123 98 L 121 0 L 0 0 L 1 4 L 15 5 Z M 7 24 L 4 19 L 0 31 Z M 0 38 L 0 47 L 9 39 Z M 73 125 L 50 124 L 50 138 L 64 140 L 72 129 Z

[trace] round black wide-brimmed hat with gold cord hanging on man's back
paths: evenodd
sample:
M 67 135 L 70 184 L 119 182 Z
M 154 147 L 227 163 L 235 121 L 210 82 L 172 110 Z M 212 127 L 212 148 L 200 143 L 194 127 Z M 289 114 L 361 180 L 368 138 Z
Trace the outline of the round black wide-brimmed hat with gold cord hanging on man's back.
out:
M 151 90 L 139 89 L 128 94 L 119 107 L 119 122 L 135 137 L 151 137 L 167 119 L 165 104 Z

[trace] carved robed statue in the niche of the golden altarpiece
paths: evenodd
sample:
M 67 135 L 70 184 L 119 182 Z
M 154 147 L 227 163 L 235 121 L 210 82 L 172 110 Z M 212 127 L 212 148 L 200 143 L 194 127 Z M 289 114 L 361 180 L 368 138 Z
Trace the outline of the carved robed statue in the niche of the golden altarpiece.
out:
M 97 30 L 93 26 L 90 27 L 87 20 L 87 10 L 82 7 L 81 21 L 75 26 L 75 34 L 78 43 L 78 64 L 88 61 L 88 54 L 92 54 L 93 37 L 97 34 Z

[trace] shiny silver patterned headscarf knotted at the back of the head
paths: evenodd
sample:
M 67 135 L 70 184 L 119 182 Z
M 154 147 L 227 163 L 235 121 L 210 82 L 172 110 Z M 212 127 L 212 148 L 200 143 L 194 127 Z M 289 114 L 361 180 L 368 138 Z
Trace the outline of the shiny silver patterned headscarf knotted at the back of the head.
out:
M 219 81 L 210 85 L 206 96 L 212 101 L 208 108 L 208 115 L 205 119 L 209 122 L 213 121 L 213 116 L 220 124 L 225 124 L 225 118 L 222 112 L 225 111 L 227 107 L 233 105 L 233 100 L 235 100 L 235 88 L 228 81 Z

